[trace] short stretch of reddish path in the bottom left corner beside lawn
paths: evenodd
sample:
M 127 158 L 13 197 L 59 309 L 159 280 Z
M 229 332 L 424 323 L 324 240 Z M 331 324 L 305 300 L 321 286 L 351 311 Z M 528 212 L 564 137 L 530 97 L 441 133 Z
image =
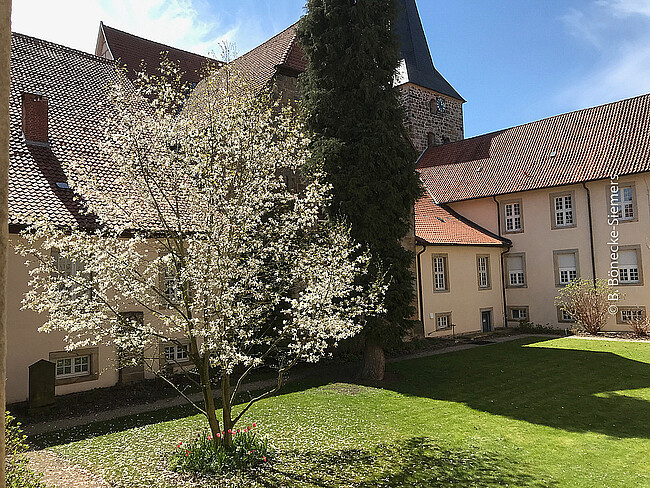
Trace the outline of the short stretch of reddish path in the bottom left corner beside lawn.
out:
M 43 473 L 48 488 L 111 488 L 111 485 L 90 471 L 72 464 L 52 451 L 30 451 L 29 469 Z

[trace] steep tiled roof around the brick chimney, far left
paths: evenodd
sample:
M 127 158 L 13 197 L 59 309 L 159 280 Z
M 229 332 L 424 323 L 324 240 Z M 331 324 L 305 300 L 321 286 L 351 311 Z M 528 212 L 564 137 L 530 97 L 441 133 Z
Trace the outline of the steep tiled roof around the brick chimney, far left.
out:
M 108 88 L 120 81 L 112 61 L 12 33 L 9 222 L 46 215 L 59 225 L 92 226 L 69 189 L 61 162 L 83 158 L 105 168 L 99 152 Z M 22 134 L 21 93 L 48 98 L 50 144 L 27 144 Z

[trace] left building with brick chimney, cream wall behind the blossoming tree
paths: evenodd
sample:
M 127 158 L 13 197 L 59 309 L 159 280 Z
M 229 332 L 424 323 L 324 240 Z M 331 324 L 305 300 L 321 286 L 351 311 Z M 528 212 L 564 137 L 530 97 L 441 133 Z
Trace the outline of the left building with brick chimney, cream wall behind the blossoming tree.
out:
M 47 215 L 57 225 L 93 228 L 67 184 L 62 162 L 83 159 L 110 179 L 100 155 L 102 121 L 110 110 L 109 87 L 128 83 L 115 63 L 75 49 L 13 33 L 9 147 L 9 246 L 30 217 Z M 65 272 L 65 263 L 61 263 Z M 27 399 L 29 366 L 56 365 L 56 393 L 110 386 L 120 379 L 115 353 L 103 346 L 68 352 L 63 333 L 38 332 L 45 319 L 21 310 L 29 289 L 25 258 L 8 255 L 7 402 Z M 100 374 L 100 372 L 102 374 Z

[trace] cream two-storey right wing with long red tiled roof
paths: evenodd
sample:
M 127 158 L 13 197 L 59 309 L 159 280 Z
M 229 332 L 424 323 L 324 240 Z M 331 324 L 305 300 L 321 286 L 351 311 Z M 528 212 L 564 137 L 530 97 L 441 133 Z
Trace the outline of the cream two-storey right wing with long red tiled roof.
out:
M 494 286 L 504 286 L 500 323 L 571 327 L 554 299 L 571 280 L 594 277 L 612 280 L 619 291 L 607 330 L 629 330 L 629 320 L 645 316 L 650 95 L 430 147 L 417 168 L 436 203 L 510 241 L 493 275 Z M 451 257 L 443 265 L 449 291 L 480 287 L 478 255 L 473 277 L 459 275 L 463 270 Z M 435 303 L 435 280 L 424 271 L 419 280 L 425 304 Z M 452 303 L 459 311 L 471 306 L 472 327 L 480 330 L 478 302 Z M 437 330 L 433 320 L 423 316 L 425 331 Z

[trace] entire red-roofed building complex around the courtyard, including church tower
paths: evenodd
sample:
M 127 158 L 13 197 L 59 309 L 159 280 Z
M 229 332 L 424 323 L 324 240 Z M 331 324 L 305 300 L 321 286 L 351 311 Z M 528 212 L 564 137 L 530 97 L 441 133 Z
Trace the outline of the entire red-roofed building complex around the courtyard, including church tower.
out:
M 613 273 L 621 293 L 608 328 L 626 329 L 626 321 L 645 315 L 650 95 L 464 139 L 464 100 L 434 66 L 415 0 L 400 5 L 396 84 L 405 132 L 422 152 L 417 171 L 426 190 L 415 206 L 414 235 L 407 239 L 416 255 L 422 323 L 416 333 L 464 334 L 522 320 L 568 327 L 568 317 L 553 303 L 559 289 L 577 277 L 607 279 Z M 12 244 L 29 216 L 44 213 L 59 225 L 94 226 L 74 200 L 61 162 L 83 159 L 110 178 L 110 164 L 98 148 L 110 110 L 108 87 L 130 83 L 142 60 L 153 68 L 161 52 L 179 61 L 185 80 L 201 89 L 208 58 L 103 24 L 97 56 L 13 34 Z M 118 61 L 126 64 L 127 77 L 115 69 Z M 306 62 L 295 25 L 235 64 L 255 88 L 271 86 L 288 102 L 299 98 L 297 80 Z M 24 259 L 10 254 L 8 402 L 27 398 L 28 368 L 41 359 L 56 364 L 57 394 L 143 376 L 116 369 L 116 351 L 66 352 L 62 335 L 39 333 L 43 317 L 20 309 L 28 281 Z M 168 355 L 182 360 L 182 353 L 161 346 L 163 361 Z

